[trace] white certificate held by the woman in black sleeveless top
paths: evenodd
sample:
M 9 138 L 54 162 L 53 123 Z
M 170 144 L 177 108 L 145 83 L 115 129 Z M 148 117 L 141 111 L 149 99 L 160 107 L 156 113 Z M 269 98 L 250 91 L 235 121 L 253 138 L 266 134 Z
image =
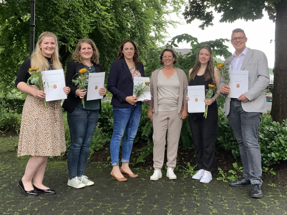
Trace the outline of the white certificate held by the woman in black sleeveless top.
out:
M 188 86 L 187 95 L 189 101 L 187 102 L 187 111 L 189 113 L 203 113 L 205 112 L 205 89 L 204 85 Z

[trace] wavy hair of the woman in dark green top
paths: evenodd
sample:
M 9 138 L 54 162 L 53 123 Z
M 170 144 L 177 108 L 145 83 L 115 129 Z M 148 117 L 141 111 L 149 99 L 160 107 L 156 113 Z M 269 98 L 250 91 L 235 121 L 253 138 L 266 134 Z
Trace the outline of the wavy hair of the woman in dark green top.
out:
M 96 44 L 94 43 L 93 40 L 91 40 L 90 38 L 84 38 L 82 40 L 80 40 L 75 48 L 75 52 L 73 53 L 72 55 L 72 58 L 76 61 L 76 62 L 79 62 L 79 63 L 82 63 L 82 64 L 85 64 L 84 63 L 84 59 L 82 58 L 82 55 L 81 55 L 81 46 L 83 43 L 86 43 L 86 44 L 89 44 L 92 46 L 92 49 L 93 49 L 93 54 L 92 54 L 92 57 L 91 57 L 91 61 L 94 62 L 95 64 L 99 64 L 99 56 L 100 56 L 100 53 L 99 53 L 99 50 L 98 48 L 96 47 Z

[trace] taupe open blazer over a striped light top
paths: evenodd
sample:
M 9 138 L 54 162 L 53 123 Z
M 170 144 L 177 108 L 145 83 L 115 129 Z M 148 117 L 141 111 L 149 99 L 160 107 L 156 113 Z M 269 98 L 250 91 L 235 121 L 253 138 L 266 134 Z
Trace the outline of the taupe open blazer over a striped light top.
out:
M 158 88 L 157 88 L 157 80 L 158 80 L 158 72 L 163 67 L 154 70 L 152 72 L 152 76 L 150 77 L 150 94 L 153 96 L 151 100 L 148 101 L 149 105 L 153 105 L 152 112 L 158 113 Z M 180 113 L 183 109 L 183 104 L 187 104 L 186 96 L 187 96 L 187 77 L 182 69 L 175 68 L 177 70 L 177 77 L 179 79 L 179 102 L 177 113 Z

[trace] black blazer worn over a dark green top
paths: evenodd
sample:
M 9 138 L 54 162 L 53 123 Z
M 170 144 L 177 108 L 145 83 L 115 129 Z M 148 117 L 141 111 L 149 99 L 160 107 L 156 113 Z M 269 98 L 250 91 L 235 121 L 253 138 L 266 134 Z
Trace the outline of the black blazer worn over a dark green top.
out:
M 93 65 L 96 69 L 96 72 L 102 72 L 102 65 L 101 64 L 96 65 L 93 62 Z M 80 101 L 80 97 L 76 95 L 76 90 L 78 88 L 75 85 L 75 83 L 72 82 L 72 80 L 78 76 L 78 75 L 75 76 L 75 74 L 79 74 L 79 70 L 83 69 L 83 68 L 84 68 L 84 64 L 81 64 L 79 62 L 75 62 L 75 60 L 69 60 L 69 62 L 67 64 L 65 81 L 66 81 L 66 86 L 68 86 L 71 89 L 71 91 L 67 95 L 67 99 L 64 100 L 62 107 L 65 111 L 68 111 L 70 113 L 74 111 L 75 107 L 77 106 L 78 102 Z M 101 111 L 101 108 L 102 108 L 102 106 L 101 106 L 101 102 L 100 102 L 99 112 Z

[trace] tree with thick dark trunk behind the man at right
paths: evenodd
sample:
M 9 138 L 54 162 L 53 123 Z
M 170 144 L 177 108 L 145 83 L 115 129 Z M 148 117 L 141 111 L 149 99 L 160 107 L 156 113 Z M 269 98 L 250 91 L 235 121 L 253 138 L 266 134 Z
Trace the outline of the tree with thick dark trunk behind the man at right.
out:
M 287 118 L 287 1 L 286 0 L 189 0 L 183 13 L 187 23 L 194 19 L 202 21 L 199 27 L 204 29 L 213 25 L 213 14 L 208 9 L 213 8 L 223 13 L 220 22 L 233 22 L 236 19 L 245 21 L 261 19 L 263 9 L 269 18 L 275 22 L 275 64 L 273 101 L 271 115 L 273 120 L 282 122 Z

